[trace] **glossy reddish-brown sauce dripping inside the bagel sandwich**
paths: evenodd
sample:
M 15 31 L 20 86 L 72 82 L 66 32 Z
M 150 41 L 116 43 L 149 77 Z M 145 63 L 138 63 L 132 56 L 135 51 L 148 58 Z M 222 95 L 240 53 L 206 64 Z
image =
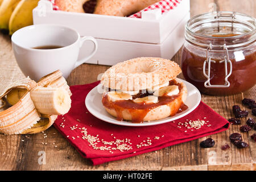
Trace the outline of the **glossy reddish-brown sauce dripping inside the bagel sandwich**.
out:
M 169 85 L 177 85 L 179 86 L 179 90 L 182 89 L 181 84 L 179 84 L 178 82 L 176 82 L 175 80 L 172 80 L 169 82 Z M 138 97 L 146 97 L 152 95 L 148 92 L 143 92 L 142 90 L 140 90 L 140 92 L 133 96 L 134 98 L 138 98 Z M 183 104 L 183 102 L 181 102 L 181 104 L 179 106 L 176 107 L 171 105 L 170 103 L 172 101 L 174 101 L 175 99 L 177 100 L 181 100 L 181 94 L 177 94 L 174 96 L 161 96 L 158 97 L 158 103 L 156 104 L 146 104 L 145 102 L 142 103 L 135 103 L 133 102 L 133 100 L 121 100 L 121 101 L 109 101 L 108 99 L 108 93 L 104 94 L 104 96 L 102 97 L 102 104 L 108 108 L 108 109 L 114 109 L 115 113 L 117 113 L 117 120 L 118 121 L 123 121 L 123 110 L 127 109 L 129 111 L 129 113 L 131 114 L 131 122 L 133 123 L 142 123 L 144 117 L 147 115 L 147 113 L 151 110 L 154 109 L 155 107 L 161 106 L 161 105 L 168 105 L 172 108 L 171 109 L 171 113 L 170 115 L 173 116 L 176 113 L 180 113 L 181 111 L 184 111 L 186 109 L 188 109 L 188 106 L 186 106 L 185 104 Z M 179 102 L 178 102 L 179 103 Z

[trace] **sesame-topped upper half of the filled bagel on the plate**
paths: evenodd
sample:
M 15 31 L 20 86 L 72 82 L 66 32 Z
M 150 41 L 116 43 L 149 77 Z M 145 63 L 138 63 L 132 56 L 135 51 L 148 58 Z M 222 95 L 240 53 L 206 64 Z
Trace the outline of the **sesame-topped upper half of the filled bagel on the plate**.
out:
M 158 57 L 138 57 L 109 68 L 101 77 L 105 88 L 135 91 L 152 89 L 181 73 L 177 63 Z

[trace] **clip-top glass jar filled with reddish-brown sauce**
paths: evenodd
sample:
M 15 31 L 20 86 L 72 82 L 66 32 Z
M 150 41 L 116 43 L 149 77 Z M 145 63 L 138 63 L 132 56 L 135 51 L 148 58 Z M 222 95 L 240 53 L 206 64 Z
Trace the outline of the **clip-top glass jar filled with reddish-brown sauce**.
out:
M 255 18 L 230 11 L 191 18 L 185 27 L 181 69 L 200 92 L 230 95 L 256 83 Z

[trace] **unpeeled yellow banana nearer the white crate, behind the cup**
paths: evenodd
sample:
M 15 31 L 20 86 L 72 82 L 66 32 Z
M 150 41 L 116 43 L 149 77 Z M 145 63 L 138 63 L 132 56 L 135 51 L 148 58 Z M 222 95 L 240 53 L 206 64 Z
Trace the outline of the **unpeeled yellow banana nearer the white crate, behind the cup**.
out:
M 18 3 L 10 17 L 10 35 L 13 35 L 15 31 L 22 27 L 30 26 L 33 24 L 32 10 L 38 5 L 38 2 L 39 0 L 22 0 Z

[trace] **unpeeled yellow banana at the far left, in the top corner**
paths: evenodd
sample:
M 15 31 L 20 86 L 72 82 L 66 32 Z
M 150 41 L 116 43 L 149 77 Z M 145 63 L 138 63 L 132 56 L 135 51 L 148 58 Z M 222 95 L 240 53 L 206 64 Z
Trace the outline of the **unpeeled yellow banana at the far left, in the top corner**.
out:
M 0 29 L 9 28 L 9 20 L 20 0 L 0 0 Z

